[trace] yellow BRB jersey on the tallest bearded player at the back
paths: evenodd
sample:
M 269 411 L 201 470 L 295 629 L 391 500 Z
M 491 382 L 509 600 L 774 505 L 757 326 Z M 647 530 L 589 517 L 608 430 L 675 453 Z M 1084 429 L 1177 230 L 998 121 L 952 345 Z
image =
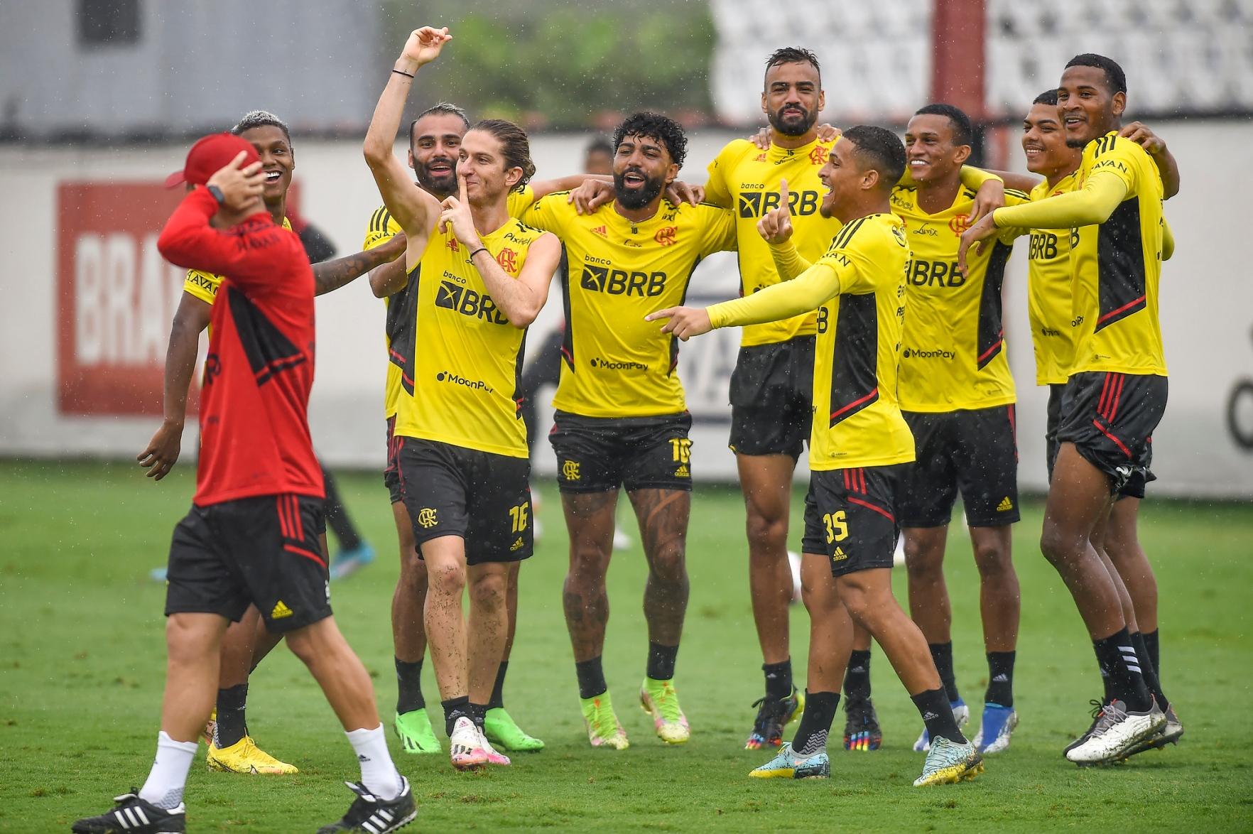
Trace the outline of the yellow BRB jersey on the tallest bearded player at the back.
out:
M 832 142 L 814 139 L 792 149 L 772 144 L 762 150 L 752 142 L 736 139 L 709 163 L 705 199 L 736 213 L 741 296 L 779 282 L 769 244 L 757 233 L 757 222 L 778 208 L 781 180 L 787 180 L 792 228 L 796 229 L 792 239 L 802 258 L 816 260 L 840 232 L 840 220 L 818 213 L 827 193 L 818 172 L 836 142 L 838 138 Z M 817 332 L 816 321 L 814 313 L 807 313 L 782 322 L 749 324 L 741 331 L 741 344 L 774 344 L 797 336 L 812 336 Z

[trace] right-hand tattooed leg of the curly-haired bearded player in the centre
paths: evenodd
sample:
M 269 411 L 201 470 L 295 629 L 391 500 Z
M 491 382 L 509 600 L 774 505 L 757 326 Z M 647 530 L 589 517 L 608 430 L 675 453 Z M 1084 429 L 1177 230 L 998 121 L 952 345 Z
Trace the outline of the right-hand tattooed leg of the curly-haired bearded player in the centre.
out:
M 679 645 L 688 610 L 685 561 L 692 493 L 683 490 L 635 490 L 629 493 L 639 520 L 648 560 L 644 619 L 649 642 Z

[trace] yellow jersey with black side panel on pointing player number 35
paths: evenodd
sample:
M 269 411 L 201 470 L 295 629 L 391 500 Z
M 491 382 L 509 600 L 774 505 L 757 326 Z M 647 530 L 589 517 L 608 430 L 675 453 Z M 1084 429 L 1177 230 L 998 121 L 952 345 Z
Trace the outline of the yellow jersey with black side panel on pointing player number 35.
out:
M 847 470 L 913 460 L 897 399 L 910 245 L 893 214 L 862 217 L 836 234 L 818 264 L 840 294 L 818 308 L 809 468 Z

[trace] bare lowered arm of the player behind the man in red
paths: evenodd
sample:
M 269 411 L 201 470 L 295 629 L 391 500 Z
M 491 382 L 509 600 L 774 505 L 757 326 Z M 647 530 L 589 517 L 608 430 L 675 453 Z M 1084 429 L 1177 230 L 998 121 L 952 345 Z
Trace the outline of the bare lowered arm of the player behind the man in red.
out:
M 209 326 L 213 307 L 183 293 L 169 328 L 165 348 L 164 417 L 162 425 L 135 460 L 148 470 L 148 477 L 160 481 L 169 475 L 182 451 L 183 426 L 187 422 L 187 392 L 195 373 L 195 352 L 200 332 Z

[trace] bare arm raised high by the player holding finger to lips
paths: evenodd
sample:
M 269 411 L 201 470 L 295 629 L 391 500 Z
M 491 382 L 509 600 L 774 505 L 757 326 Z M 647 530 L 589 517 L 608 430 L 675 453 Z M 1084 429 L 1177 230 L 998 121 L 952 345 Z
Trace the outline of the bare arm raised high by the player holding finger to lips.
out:
M 378 96 L 375 115 L 366 131 L 365 155 L 370 172 L 378 184 L 378 193 L 391 215 L 396 218 L 410 239 L 410 249 L 426 247 L 426 238 L 439 215 L 439 203 L 410 179 L 405 163 L 392 152 L 400 130 L 405 100 L 419 69 L 434 61 L 452 39 L 449 30 L 422 26 L 410 33 L 400 58 L 387 76 L 387 86 Z

